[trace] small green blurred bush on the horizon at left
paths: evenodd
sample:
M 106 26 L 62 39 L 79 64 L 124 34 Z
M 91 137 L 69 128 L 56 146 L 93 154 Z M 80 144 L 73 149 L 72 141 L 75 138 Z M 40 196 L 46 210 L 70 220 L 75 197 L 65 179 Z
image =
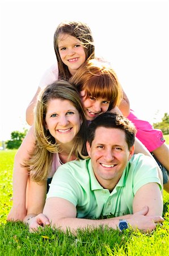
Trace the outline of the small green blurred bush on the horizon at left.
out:
M 12 131 L 11 139 L 9 141 L 6 141 L 6 148 L 9 148 L 9 149 L 19 148 L 26 134 L 27 134 L 27 129 L 23 129 L 23 132 Z

